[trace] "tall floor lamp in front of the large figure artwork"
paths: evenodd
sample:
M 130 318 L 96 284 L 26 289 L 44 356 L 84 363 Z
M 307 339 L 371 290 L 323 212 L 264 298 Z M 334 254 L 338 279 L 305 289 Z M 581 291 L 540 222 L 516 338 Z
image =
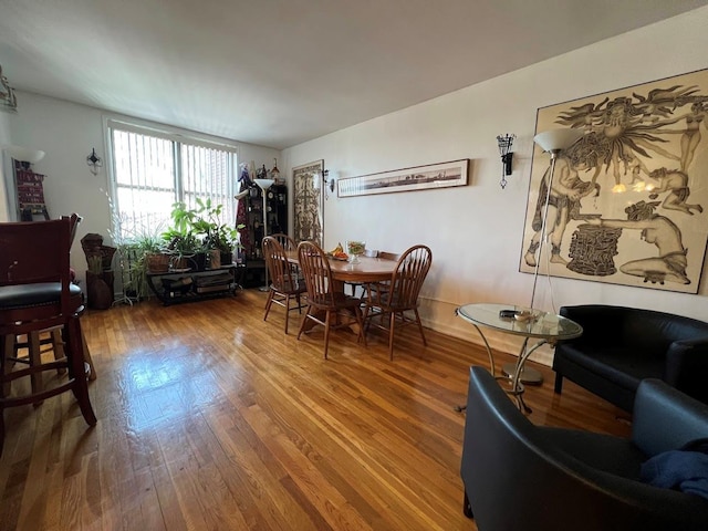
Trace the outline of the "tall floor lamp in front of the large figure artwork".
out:
M 543 152 L 550 154 L 551 156 L 551 167 L 546 170 L 549 175 L 546 191 L 545 191 L 545 201 L 543 202 L 543 218 L 541 221 L 541 232 L 539 238 L 539 248 L 538 248 L 538 258 L 535 260 L 535 267 L 533 269 L 533 290 L 531 291 L 531 305 L 530 308 L 533 310 L 533 303 L 535 300 L 535 285 L 539 281 L 539 264 L 541 263 L 541 256 L 543 253 L 543 243 L 545 243 L 545 222 L 549 216 L 549 200 L 551 199 L 551 188 L 553 186 L 553 173 L 555 171 L 555 160 L 558 159 L 561 152 L 568 149 L 583 136 L 583 132 L 581 129 L 551 129 L 544 131 L 543 133 L 539 133 L 533 137 L 533 142 L 535 142 Z M 546 271 L 548 274 L 548 271 Z M 513 374 L 516 368 L 514 363 L 509 363 L 502 367 L 504 374 Z M 524 384 L 540 384 L 543 382 L 543 375 L 532 367 L 524 367 L 521 373 L 521 382 Z

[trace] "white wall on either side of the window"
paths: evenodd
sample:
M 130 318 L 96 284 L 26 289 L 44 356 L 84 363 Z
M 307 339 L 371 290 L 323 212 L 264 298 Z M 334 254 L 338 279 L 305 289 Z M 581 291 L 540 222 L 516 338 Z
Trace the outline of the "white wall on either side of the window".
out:
M 106 168 L 102 168 L 98 175 L 93 175 L 86 165 L 86 156 L 94 147 L 101 158 L 107 159 L 103 131 L 105 113 L 27 92 L 18 92 L 18 102 L 20 108 L 17 115 L 10 115 L 9 128 L 13 144 L 46 153 L 42 160 L 33 165 L 33 169 L 46 175 L 44 200 L 50 216 L 56 218 L 79 212 L 84 218 L 72 249 L 72 267 L 79 278 L 83 279 L 86 261 L 81 250 L 81 238 L 88 232 L 97 232 L 110 244 Z M 236 140 L 232 143 L 238 146 L 239 162 L 253 160 L 257 166 L 266 164 L 266 167 L 271 168 L 273 158 L 280 155 L 277 149 Z

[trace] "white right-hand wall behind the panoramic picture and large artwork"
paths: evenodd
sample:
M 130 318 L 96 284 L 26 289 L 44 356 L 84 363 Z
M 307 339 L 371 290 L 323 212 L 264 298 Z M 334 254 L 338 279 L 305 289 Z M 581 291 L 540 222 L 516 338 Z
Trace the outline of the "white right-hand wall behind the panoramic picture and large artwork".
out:
M 533 277 L 519 272 L 537 108 L 708 67 L 708 8 L 561 55 L 436 100 L 381 116 L 283 152 L 283 168 L 323 158 L 351 177 L 459 158 L 471 159 L 471 183 L 407 194 L 325 201 L 325 248 L 348 237 L 402 251 L 423 242 L 434 266 L 421 315 L 433 329 L 479 342 L 455 316 L 467 302 L 529 304 Z M 459 65 L 465 67 L 465 65 Z M 420 72 L 425 75 L 425 72 Z M 513 175 L 499 186 L 496 136 L 516 133 Z M 706 212 L 702 222 L 708 222 Z M 606 303 L 657 309 L 708 321 L 705 277 L 688 295 L 552 278 L 555 308 Z M 552 309 L 545 279 L 535 306 Z M 518 352 L 514 337 L 490 334 L 493 347 Z M 552 353 L 538 358 L 549 363 Z

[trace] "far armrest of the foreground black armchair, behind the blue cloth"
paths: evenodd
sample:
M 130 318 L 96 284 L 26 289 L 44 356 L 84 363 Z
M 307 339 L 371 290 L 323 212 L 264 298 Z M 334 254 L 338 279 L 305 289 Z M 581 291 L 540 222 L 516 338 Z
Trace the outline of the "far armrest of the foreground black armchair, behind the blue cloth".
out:
M 708 438 L 708 405 L 660 379 L 643 379 L 634 400 L 632 441 L 647 456 Z

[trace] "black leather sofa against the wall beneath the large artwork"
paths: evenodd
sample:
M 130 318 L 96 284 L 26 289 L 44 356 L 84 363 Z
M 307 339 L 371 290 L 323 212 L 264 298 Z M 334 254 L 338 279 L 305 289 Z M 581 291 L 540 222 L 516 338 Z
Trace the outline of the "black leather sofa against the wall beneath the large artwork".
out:
M 602 304 L 562 306 L 560 314 L 579 323 L 583 335 L 555 348 L 555 393 L 569 378 L 632 412 L 639 382 L 658 378 L 708 403 L 708 323 Z

